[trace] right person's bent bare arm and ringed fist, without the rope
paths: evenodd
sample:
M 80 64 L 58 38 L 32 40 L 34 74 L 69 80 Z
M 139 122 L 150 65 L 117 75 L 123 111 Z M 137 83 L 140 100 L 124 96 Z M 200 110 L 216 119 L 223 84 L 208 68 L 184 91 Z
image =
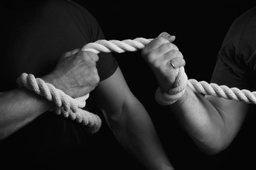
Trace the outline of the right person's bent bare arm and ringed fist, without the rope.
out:
M 164 33 L 142 51 L 144 60 L 153 70 L 162 91 L 169 91 L 177 77 L 175 69 L 185 65 L 178 48 L 168 42 Z M 166 50 L 168 49 L 169 50 Z M 214 96 L 195 94 L 187 86 L 176 103 L 167 106 L 196 145 L 206 154 L 217 154 L 233 141 L 241 128 L 248 104 Z

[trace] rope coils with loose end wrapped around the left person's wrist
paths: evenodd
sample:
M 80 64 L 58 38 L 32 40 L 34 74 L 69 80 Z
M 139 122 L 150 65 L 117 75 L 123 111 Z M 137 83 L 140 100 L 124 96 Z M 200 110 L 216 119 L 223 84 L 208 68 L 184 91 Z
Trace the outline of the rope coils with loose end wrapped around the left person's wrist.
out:
M 72 98 L 63 91 L 56 89 L 52 84 L 48 84 L 43 79 L 35 78 L 33 74 L 21 74 L 17 79 L 19 86 L 36 92 L 36 94 L 45 97 L 48 101 L 55 103 L 54 111 L 58 115 L 63 113 L 65 118 L 70 117 L 82 125 L 87 125 L 91 132 L 97 132 L 101 126 L 101 119 L 98 115 L 82 110 L 85 107 L 85 100 L 89 94 L 81 98 Z

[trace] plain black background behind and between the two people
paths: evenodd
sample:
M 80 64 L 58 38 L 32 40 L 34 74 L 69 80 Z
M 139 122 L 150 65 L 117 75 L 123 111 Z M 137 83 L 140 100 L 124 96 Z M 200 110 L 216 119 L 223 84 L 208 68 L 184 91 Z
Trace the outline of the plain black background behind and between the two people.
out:
M 186 60 L 188 79 L 210 81 L 216 56 L 230 25 L 235 18 L 255 6 L 253 2 L 186 2 L 153 1 L 134 4 L 132 1 L 99 2 L 78 1 L 97 19 L 107 40 L 155 38 L 166 31 L 176 35 L 176 44 Z M 139 2 L 139 1 L 137 1 Z M 166 153 L 176 169 L 235 169 L 246 167 L 241 159 L 240 146 L 230 146 L 227 151 L 210 157 L 202 154 L 186 135 L 176 120 L 154 101 L 156 79 L 138 52 L 114 54 L 124 78 L 135 96 L 149 112 L 159 132 Z M 104 126 L 103 126 L 104 127 Z M 107 126 L 98 134 L 110 138 Z M 139 165 L 124 154 L 122 147 L 112 140 L 101 140 L 100 149 L 116 154 L 102 164 L 110 166 L 119 162 L 124 167 L 139 169 Z M 106 165 L 107 166 L 107 165 Z M 117 167 L 118 167 L 117 166 Z

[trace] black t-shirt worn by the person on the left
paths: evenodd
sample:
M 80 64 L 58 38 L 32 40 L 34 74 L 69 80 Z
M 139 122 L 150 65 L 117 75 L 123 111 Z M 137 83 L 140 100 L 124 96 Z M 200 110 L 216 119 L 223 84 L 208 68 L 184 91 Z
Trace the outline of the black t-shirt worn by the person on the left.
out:
M 0 5 L 0 13 L 0 91 L 16 88 L 23 72 L 35 77 L 47 74 L 63 52 L 105 39 L 95 18 L 73 1 L 11 1 Z M 115 72 L 117 61 L 110 53 L 99 57 L 102 81 Z M 1 141 L 0 152 L 1 166 L 13 162 L 9 166 L 75 168 L 89 166 L 95 159 L 90 155 L 90 132 L 85 126 L 52 112 Z

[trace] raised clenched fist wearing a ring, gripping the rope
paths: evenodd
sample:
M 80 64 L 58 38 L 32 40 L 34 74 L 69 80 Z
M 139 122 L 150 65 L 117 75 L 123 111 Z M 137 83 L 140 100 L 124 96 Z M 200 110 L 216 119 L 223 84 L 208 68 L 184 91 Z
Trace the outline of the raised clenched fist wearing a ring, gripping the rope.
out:
M 142 50 L 142 57 L 151 67 L 163 92 L 168 92 L 173 87 L 178 67 L 186 64 L 178 47 L 171 43 L 174 40 L 174 35 L 164 32 Z

